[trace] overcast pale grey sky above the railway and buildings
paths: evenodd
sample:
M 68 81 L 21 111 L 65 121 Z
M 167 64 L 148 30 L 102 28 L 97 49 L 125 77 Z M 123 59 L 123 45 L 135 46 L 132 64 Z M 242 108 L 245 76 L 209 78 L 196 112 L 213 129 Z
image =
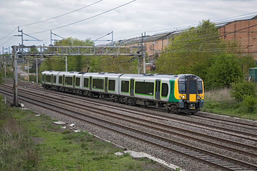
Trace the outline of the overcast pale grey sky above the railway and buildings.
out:
M 42 40 L 24 41 L 24 45 L 50 45 L 50 30 L 63 38 L 81 40 L 96 40 L 113 31 L 113 39 L 121 40 L 193 26 L 204 19 L 216 21 L 246 14 L 257 14 L 257 0 L 0 0 L 0 52 L 2 47 L 10 46 L 11 50 L 11 46 L 21 44 L 21 37 L 13 36 L 21 35 L 18 26 L 25 34 Z M 47 21 L 40 22 L 43 20 Z M 52 39 L 61 38 L 52 35 Z M 110 34 L 99 40 L 111 39 Z M 104 43 L 108 42 L 95 42 Z

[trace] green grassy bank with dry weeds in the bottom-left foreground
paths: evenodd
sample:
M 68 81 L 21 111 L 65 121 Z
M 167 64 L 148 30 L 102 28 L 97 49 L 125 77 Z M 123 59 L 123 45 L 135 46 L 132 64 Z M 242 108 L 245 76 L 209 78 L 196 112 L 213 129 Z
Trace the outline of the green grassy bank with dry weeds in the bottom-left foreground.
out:
M 0 170 L 154 170 L 151 160 L 116 156 L 120 148 L 88 132 L 60 129 L 52 121 L 0 102 Z

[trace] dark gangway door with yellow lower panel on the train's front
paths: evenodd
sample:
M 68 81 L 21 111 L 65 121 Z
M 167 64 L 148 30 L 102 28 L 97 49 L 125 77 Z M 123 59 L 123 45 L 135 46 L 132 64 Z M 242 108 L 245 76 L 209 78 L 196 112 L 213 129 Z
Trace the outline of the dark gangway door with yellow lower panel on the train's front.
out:
M 189 102 L 197 101 L 197 78 L 193 75 L 187 77 L 187 100 Z

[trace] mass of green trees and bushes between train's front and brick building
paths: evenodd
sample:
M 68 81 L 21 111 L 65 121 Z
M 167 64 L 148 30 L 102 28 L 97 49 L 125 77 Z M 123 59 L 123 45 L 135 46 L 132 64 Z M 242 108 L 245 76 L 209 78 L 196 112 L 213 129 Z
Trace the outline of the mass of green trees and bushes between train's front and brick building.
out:
M 254 67 L 252 55 L 240 56 L 238 43 L 223 40 L 210 20 L 199 22 L 169 42 L 153 72 L 194 74 L 203 79 L 205 89 L 229 87 L 248 74 L 249 67 Z

